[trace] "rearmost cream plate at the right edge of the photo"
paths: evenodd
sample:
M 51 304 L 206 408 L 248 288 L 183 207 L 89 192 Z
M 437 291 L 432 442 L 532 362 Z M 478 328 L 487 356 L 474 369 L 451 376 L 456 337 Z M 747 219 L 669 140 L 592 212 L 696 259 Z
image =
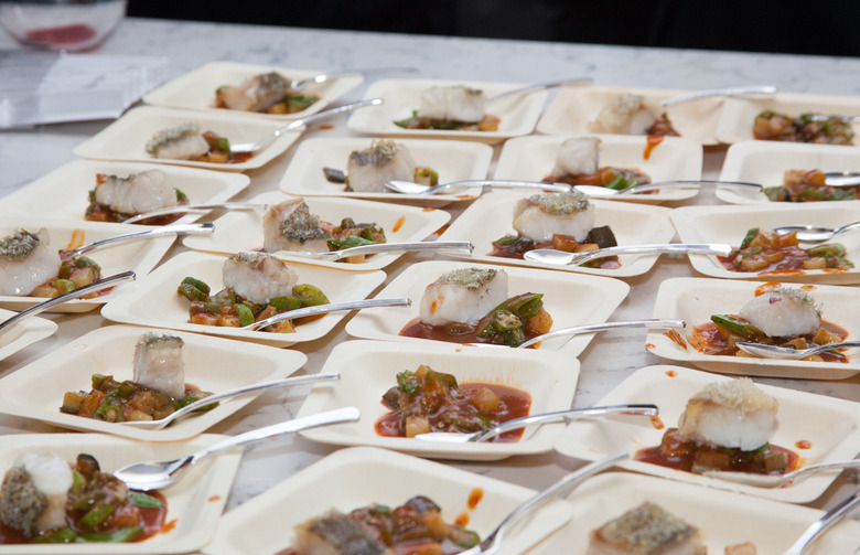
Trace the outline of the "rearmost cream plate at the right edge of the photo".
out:
M 727 98 L 717 122 L 717 139 L 721 142 L 740 142 L 754 139 L 753 124 L 764 110 L 797 117 L 800 114 L 834 116 L 860 115 L 860 98 L 857 96 L 816 95 L 803 93 L 778 93 L 771 97 Z M 854 141 L 860 134 L 860 124 L 853 124 Z

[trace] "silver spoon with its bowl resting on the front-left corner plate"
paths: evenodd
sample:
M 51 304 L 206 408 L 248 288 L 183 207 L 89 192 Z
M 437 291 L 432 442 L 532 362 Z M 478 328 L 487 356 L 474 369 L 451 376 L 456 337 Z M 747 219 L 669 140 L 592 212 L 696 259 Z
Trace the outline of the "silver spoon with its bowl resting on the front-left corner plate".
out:
M 272 436 L 280 436 L 282 434 L 294 434 L 303 429 L 316 428 L 319 426 L 355 421 L 359 416 L 361 414 L 356 407 L 337 408 L 335 410 L 304 416 L 302 418 L 295 418 L 229 437 L 215 445 L 211 445 L 205 449 L 201 449 L 193 455 L 189 455 L 187 457 L 165 461 L 136 462 L 133 465 L 128 465 L 114 472 L 114 476 L 126 482 L 126 485 L 131 490 L 158 490 L 172 484 L 182 478 L 185 471 L 192 466 L 209 455 L 215 455 L 224 449 L 259 441 L 260 439 Z

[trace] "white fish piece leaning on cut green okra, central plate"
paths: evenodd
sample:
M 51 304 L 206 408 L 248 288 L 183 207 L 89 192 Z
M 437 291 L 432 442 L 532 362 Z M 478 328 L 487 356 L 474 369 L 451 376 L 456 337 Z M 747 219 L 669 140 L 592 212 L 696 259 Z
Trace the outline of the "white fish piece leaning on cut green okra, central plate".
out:
M 427 286 L 421 297 L 421 321 L 430 325 L 477 322 L 507 299 L 507 273 L 462 268 Z

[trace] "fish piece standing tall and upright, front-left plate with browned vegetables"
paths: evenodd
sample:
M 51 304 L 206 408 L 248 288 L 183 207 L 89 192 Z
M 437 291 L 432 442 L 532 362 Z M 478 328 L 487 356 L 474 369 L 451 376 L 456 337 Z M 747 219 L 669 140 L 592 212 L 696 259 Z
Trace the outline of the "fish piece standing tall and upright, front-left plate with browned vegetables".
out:
M 135 382 L 173 398 L 185 395 L 181 338 L 148 331 L 135 345 Z

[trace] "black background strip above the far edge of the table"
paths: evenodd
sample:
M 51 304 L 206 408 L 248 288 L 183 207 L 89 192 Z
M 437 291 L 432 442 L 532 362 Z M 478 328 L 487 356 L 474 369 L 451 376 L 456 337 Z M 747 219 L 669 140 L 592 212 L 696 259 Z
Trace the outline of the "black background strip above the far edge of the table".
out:
M 355 31 L 860 56 L 858 0 L 130 0 L 128 13 Z

